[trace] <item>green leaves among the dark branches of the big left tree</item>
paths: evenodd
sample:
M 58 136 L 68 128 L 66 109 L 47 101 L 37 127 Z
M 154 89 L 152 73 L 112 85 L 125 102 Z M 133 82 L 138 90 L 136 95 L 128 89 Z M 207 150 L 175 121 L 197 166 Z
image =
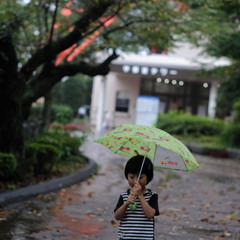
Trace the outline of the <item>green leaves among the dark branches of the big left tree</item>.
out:
M 4 1 L 2 1 L 4 2 Z M 46 46 L 49 42 L 50 30 L 54 19 L 52 10 L 55 3 L 49 4 L 32 0 L 29 4 L 2 3 L 0 15 L 0 35 L 6 30 L 12 29 L 14 44 L 21 63 L 29 59 L 28 54 Z M 14 1 L 13 1 L 14 2 Z M 138 47 L 156 47 L 166 49 L 174 41 L 173 36 L 181 29 L 181 11 L 175 11 L 176 4 L 169 3 L 169 0 L 123 0 L 115 2 L 106 1 L 74 1 L 69 6 L 70 14 L 66 17 L 62 10 L 66 9 L 66 1 L 59 0 L 56 12 L 57 22 L 54 29 L 54 41 L 69 34 L 69 29 L 76 27 L 80 36 L 79 42 L 89 38 L 89 33 L 98 32 L 96 41 L 93 41 L 76 59 L 96 58 L 95 53 L 104 49 L 136 50 Z M 70 11 L 71 10 L 71 11 Z M 82 11 L 82 12 L 81 12 Z M 83 14 L 84 12 L 84 14 Z M 83 26 L 81 20 L 87 14 L 87 20 Z M 103 28 L 106 19 L 116 17 L 110 28 Z M 5 23 L 5 24 L 3 24 Z M 12 26 L 13 25 L 13 26 Z M 73 31 L 73 29 L 71 30 Z M 78 41 L 78 39 L 76 38 Z M 72 42 L 74 44 L 77 42 Z M 78 43 L 77 43 L 78 44 Z M 66 45 L 66 48 L 70 45 Z M 62 50 L 61 50 L 62 51 Z M 54 53 L 55 54 L 55 53 Z

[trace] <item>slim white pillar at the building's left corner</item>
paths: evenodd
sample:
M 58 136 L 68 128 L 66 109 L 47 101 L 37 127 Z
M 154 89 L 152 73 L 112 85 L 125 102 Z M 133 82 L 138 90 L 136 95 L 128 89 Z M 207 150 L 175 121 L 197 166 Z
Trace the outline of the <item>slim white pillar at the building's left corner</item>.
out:
M 100 136 L 103 128 L 103 116 L 104 116 L 104 100 L 106 95 L 106 77 L 101 77 L 101 83 L 99 87 L 98 107 L 97 107 L 97 122 L 96 122 L 96 135 Z

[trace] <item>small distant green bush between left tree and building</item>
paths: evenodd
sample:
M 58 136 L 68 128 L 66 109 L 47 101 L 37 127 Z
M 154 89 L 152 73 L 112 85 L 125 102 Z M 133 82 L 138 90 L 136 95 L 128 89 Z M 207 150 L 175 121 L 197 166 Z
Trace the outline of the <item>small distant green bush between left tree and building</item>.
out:
M 68 105 L 53 104 L 52 121 L 58 123 L 68 123 L 73 119 L 73 110 Z

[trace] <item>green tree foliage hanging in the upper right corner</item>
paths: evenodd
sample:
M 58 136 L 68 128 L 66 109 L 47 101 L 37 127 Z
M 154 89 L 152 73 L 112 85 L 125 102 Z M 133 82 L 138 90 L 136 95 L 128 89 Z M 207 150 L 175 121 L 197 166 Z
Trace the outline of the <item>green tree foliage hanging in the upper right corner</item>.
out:
M 221 79 L 217 113 L 224 117 L 240 96 L 240 1 L 184 2 L 188 5 L 184 15 L 188 19 L 184 26 L 187 41 L 203 47 L 208 55 L 227 57 L 232 62 L 211 72 Z

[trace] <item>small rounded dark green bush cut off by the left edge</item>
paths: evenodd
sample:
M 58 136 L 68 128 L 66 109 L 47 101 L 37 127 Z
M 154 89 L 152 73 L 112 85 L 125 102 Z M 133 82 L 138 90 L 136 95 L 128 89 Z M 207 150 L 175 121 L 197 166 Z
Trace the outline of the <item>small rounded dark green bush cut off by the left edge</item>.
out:
M 0 179 L 12 178 L 17 165 L 17 159 L 14 154 L 0 152 Z

